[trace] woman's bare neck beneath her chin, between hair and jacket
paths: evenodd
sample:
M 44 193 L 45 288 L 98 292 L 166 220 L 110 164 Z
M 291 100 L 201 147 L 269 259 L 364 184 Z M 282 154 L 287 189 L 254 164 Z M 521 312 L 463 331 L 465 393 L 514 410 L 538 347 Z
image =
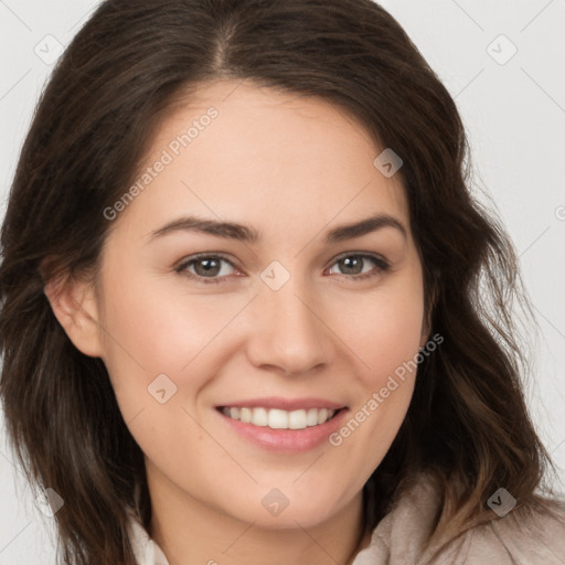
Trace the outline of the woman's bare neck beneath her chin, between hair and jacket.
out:
M 277 530 L 237 520 L 169 481 L 148 480 L 149 535 L 170 565 L 351 565 L 371 537 L 361 492 L 321 523 Z

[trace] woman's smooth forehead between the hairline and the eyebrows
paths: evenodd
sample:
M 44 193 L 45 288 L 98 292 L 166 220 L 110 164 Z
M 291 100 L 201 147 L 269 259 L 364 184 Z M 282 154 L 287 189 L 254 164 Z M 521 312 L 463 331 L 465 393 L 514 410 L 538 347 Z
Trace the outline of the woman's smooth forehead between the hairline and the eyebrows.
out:
M 204 83 L 162 119 L 122 215 L 153 225 L 199 213 L 311 232 L 379 212 L 408 226 L 399 174 L 374 166 L 381 151 L 355 117 L 318 96 Z

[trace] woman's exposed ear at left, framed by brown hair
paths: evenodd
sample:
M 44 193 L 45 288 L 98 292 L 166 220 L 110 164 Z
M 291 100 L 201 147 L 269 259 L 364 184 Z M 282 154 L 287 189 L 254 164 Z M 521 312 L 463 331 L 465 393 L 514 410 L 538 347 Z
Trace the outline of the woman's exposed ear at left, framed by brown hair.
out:
M 51 278 L 44 292 L 55 318 L 78 351 L 102 358 L 102 328 L 93 282 L 70 276 Z

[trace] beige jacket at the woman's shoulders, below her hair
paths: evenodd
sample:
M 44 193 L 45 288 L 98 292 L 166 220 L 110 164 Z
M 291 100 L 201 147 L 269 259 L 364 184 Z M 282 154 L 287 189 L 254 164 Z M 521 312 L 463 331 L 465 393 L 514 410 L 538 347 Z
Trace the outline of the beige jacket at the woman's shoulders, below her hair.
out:
M 561 521 L 524 519 L 518 510 L 503 518 L 493 512 L 492 522 L 467 531 L 439 552 L 437 545 L 423 552 L 438 503 L 434 482 L 423 476 L 376 525 L 352 565 L 565 565 L 565 510 Z M 134 518 L 131 540 L 139 565 L 169 565 Z

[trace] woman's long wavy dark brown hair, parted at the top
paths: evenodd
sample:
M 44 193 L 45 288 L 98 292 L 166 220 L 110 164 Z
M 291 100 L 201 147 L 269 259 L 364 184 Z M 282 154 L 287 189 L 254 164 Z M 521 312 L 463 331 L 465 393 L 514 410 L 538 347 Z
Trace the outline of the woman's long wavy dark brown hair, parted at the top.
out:
M 365 486 L 367 526 L 425 469 L 458 531 L 493 518 L 484 502 L 501 486 L 520 505 L 547 507 L 536 489 L 550 460 L 520 382 L 512 305 L 527 300 L 513 247 L 471 198 L 456 105 L 401 25 L 371 0 L 108 0 L 41 97 L 1 233 L 7 429 L 30 481 L 65 500 L 64 563 L 134 564 L 126 509 L 138 493 L 147 526 L 150 501 L 106 367 L 71 343 L 45 280 L 97 265 L 104 210 L 136 177 L 163 110 L 222 77 L 322 97 L 404 161 L 426 311 L 445 340 L 419 364 L 408 414 Z

